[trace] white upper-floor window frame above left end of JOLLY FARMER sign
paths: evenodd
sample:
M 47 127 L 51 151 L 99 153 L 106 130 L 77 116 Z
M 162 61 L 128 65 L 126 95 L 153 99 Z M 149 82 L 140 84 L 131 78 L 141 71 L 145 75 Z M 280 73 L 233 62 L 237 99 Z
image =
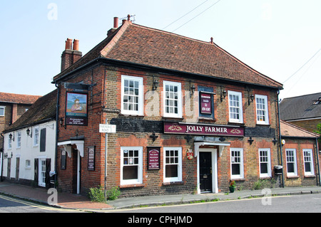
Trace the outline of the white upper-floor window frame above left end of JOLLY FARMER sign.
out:
M 178 99 L 177 99 L 177 108 L 178 108 L 178 113 L 170 113 L 166 112 L 166 85 L 172 85 L 172 86 L 177 86 L 178 90 Z M 182 105 L 182 84 L 178 82 L 173 82 L 173 81 L 167 81 L 163 80 L 163 117 L 175 117 L 175 118 L 181 118 L 183 116 L 183 105 Z M 175 106 L 174 106 L 175 107 Z

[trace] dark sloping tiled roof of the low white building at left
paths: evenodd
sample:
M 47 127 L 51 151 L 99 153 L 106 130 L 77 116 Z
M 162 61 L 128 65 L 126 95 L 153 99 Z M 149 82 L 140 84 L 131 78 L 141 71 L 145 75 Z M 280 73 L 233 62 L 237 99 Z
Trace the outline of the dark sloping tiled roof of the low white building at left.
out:
M 36 125 L 43 120 L 55 119 L 57 91 L 58 90 L 56 89 L 43 97 L 39 97 L 39 99 L 34 102 L 34 105 L 32 105 L 29 110 L 21 115 L 21 117 L 4 132 L 11 132 L 29 125 Z

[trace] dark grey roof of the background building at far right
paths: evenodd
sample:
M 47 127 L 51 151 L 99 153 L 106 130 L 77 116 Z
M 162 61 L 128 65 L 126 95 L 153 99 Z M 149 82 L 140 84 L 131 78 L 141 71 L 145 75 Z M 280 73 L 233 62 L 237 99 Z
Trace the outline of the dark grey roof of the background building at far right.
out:
M 321 117 L 321 104 L 314 105 L 321 93 L 287 97 L 280 102 L 281 120 L 304 120 Z

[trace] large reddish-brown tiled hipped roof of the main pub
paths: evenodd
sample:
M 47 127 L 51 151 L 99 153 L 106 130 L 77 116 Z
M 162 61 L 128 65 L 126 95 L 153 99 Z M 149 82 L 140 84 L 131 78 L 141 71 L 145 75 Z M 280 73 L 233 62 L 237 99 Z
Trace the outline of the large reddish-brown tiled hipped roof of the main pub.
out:
M 54 80 L 98 57 L 282 89 L 282 84 L 253 70 L 215 43 L 130 21 L 126 21 L 71 68 L 56 75 Z

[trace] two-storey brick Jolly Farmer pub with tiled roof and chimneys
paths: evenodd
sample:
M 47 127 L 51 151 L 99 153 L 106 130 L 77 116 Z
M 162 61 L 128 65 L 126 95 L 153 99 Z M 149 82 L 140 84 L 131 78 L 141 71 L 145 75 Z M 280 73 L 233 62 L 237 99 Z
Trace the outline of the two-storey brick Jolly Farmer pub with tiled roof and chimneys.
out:
M 280 186 L 282 84 L 210 41 L 132 23 L 82 56 L 67 39 L 58 88 L 58 188 L 121 196 Z M 273 180 L 272 180 L 273 179 Z

